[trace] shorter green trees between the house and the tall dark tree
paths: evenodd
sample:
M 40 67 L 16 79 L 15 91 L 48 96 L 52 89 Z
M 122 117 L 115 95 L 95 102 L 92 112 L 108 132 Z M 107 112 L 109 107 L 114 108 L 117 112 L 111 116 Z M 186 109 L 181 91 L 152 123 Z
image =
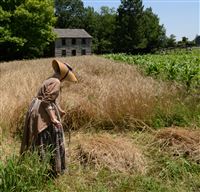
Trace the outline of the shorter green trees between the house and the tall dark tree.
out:
M 113 8 L 103 6 L 100 12 L 87 7 L 84 12 L 84 29 L 92 35 L 92 49 L 95 53 L 110 53 L 113 49 L 113 37 L 116 12 Z

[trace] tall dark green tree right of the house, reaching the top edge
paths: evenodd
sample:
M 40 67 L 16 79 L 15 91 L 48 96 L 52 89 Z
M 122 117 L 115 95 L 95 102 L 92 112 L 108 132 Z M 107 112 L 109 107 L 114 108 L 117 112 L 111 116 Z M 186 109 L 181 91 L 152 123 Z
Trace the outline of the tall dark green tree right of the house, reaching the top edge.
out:
M 142 16 L 142 0 L 121 0 L 116 16 L 116 51 L 134 53 L 146 47 Z

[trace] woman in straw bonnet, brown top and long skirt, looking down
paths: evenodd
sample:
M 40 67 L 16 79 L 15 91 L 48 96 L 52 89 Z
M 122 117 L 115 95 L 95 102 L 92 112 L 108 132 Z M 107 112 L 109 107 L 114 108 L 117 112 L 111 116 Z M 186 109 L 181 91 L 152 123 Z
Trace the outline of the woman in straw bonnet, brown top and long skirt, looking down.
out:
M 46 79 L 32 100 L 26 114 L 20 153 L 38 150 L 41 159 L 51 152 L 52 170 L 55 175 L 65 171 L 64 132 L 61 117 L 65 112 L 59 106 L 61 82 L 77 82 L 69 64 L 52 61 L 54 74 Z

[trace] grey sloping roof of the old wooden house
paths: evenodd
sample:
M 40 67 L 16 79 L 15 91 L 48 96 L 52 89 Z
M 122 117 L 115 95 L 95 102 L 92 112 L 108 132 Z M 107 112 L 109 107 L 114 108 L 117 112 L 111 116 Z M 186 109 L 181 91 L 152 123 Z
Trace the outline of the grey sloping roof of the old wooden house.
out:
M 92 38 L 84 29 L 58 29 L 55 28 L 54 32 L 60 38 Z

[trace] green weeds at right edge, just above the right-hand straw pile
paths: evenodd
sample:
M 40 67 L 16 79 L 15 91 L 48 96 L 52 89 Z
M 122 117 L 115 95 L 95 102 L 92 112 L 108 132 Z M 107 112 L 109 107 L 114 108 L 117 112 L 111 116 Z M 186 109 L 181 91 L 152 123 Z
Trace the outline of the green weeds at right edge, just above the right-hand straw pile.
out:
M 182 96 L 184 97 L 184 96 Z M 200 105 L 198 99 L 174 98 L 171 104 L 165 107 L 158 106 L 154 109 L 152 118 L 147 122 L 151 127 L 171 127 L 171 126 L 200 126 Z M 181 101 L 180 101 L 181 100 Z

